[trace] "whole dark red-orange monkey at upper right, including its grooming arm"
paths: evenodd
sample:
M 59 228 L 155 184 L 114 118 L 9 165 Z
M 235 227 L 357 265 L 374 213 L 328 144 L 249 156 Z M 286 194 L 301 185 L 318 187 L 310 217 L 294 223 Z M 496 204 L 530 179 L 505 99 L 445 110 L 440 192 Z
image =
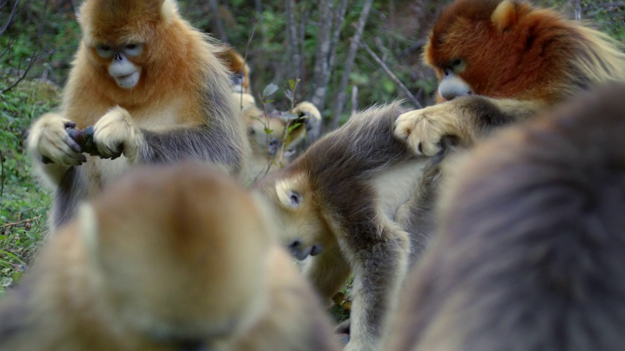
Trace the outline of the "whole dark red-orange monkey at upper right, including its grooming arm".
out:
M 444 136 L 471 146 L 494 126 L 609 81 L 625 81 L 622 44 L 553 9 L 519 0 L 456 0 L 434 25 L 424 61 L 436 106 L 397 119 L 396 134 L 434 156 Z

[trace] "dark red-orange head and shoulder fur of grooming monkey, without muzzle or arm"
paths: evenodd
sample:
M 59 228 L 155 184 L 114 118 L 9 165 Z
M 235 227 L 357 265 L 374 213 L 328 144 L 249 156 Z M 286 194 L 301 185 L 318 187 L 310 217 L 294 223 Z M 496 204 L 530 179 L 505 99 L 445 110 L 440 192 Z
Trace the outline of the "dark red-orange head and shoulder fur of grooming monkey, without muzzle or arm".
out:
M 457 0 L 424 49 L 436 70 L 455 59 L 474 94 L 560 101 L 597 83 L 625 80 L 625 54 L 606 34 L 526 1 Z

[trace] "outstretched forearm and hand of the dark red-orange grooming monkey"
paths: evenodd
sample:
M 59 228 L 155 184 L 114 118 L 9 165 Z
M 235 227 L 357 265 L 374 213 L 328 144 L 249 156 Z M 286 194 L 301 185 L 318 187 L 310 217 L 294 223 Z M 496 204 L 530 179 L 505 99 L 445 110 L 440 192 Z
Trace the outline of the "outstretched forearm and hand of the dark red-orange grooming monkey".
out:
M 395 135 L 417 152 L 434 156 L 442 149 L 443 137 L 454 137 L 462 147 L 514 121 L 533 116 L 544 108 L 541 101 L 463 96 L 424 109 L 410 111 L 395 122 Z

